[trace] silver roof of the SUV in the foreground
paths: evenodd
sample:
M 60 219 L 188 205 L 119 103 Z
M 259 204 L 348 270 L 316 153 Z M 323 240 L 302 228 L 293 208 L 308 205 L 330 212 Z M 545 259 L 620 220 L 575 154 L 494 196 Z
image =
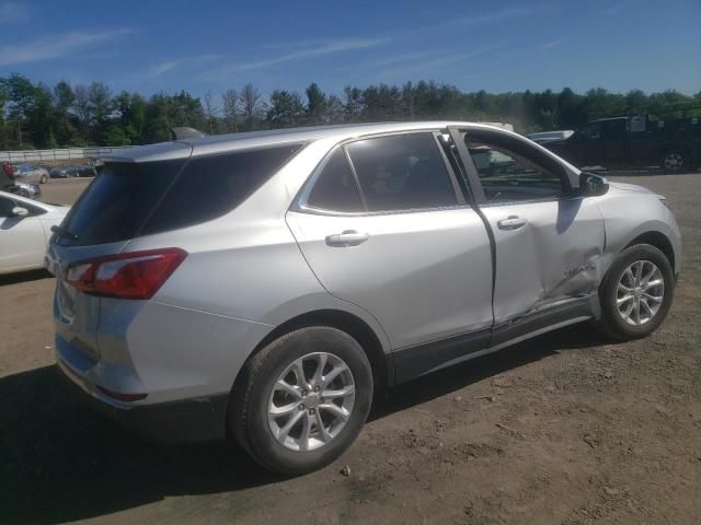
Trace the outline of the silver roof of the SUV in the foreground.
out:
M 463 121 L 414 121 L 414 122 L 379 122 L 379 124 L 344 124 L 335 126 L 311 126 L 306 128 L 271 129 L 248 131 L 242 133 L 216 135 L 197 139 L 159 142 L 149 145 L 137 145 L 115 151 L 102 156 L 105 162 L 148 162 L 170 159 L 182 159 L 204 154 L 216 154 L 252 148 L 266 148 L 287 143 L 313 142 L 321 139 L 335 139 L 340 142 L 347 139 L 369 135 L 411 131 L 418 129 L 440 129 L 448 126 L 471 126 L 490 129 L 502 129 L 479 122 Z M 502 131 L 509 133 L 509 131 Z

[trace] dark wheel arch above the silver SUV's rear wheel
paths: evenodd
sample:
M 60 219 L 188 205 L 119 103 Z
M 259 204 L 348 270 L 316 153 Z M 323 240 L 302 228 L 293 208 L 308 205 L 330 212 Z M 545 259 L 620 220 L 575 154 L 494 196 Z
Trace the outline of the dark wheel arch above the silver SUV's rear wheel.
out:
M 340 310 L 308 312 L 278 325 L 255 347 L 241 370 L 243 370 L 253 355 L 275 339 L 284 336 L 285 334 L 289 334 L 290 331 L 310 326 L 330 326 L 332 328 L 337 328 L 358 341 L 370 362 L 370 366 L 372 368 L 376 399 L 378 396 L 383 395 L 387 388 L 391 386 L 394 372 L 393 366 L 388 361 L 391 358 L 382 350 L 382 345 L 372 328 L 370 328 L 361 318 Z M 241 372 L 237 375 L 235 381 L 239 380 L 240 375 Z

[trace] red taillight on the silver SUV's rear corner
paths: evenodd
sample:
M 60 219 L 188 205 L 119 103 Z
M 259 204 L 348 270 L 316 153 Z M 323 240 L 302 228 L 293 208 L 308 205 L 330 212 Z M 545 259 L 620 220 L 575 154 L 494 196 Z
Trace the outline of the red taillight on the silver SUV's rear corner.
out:
M 151 299 L 187 256 L 180 248 L 110 255 L 74 262 L 66 281 L 91 295 Z

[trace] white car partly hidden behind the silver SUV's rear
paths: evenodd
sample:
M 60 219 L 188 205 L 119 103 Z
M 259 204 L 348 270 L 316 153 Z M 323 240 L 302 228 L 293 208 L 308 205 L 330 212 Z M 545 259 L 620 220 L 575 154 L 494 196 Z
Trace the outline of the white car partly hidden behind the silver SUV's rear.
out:
M 0 273 L 43 268 L 51 226 L 69 209 L 0 191 Z

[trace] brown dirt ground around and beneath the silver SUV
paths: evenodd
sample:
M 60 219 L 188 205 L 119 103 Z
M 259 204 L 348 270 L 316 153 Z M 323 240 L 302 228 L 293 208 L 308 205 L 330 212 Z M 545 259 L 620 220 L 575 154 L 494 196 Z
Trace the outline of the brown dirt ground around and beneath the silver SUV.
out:
M 701 523 L 701 173 L 611 179 L 666 195 L 681 225 L 657 332 L 570 327 L 404 385 L 297 479 L 225 444 L 152 447 L 83 408 L 51 366 L 53 279 L 2 279 L 0 523 Z

